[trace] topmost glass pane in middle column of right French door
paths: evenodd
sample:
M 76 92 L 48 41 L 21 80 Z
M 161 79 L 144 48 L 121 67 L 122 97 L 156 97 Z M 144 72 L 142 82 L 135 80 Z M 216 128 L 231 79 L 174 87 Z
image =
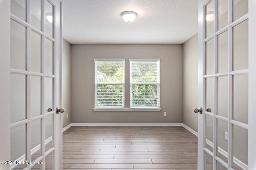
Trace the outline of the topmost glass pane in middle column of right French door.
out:
M 218 0 L 218 30 L 228 25 L 228 0 Z

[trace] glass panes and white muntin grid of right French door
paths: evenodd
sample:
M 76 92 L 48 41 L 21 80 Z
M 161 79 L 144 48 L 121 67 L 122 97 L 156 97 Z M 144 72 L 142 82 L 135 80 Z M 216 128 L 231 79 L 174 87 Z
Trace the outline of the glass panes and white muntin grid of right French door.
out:
M 203 136 L 205 139 L 203 150 L 205 153 L 203 155 L 212 156 L 212 168 L 214 170 L 220 165 L 228 169 L 247 169 L 248 164 L 248 146 L 246 145 L 248 143 L 248 135 L 246 136 L 248 133 L 248 2 L 246 3 L 244 1 L 226 0 L 225 4 L 225 0 L 210 0 L 204 6 L 203 120 L 205 131 Z M 218 6 L 219 3 L 224 4 L 224 7 L 228 7 L 228 11 L 223 10 L 223 8 L 220 9 L 220 6 Z M 240 7 L 239 3 L 241 4 Z M 238 14 L 240 8 L 242 8 L 241 14 Z M 212 9 L 212 11 L 209 11 L 209 9 Z M 222 13 L 224 19 L 221 19 L 220 13 Z M 210 21 L 211 23 L 209 23 L 209 17 L 207 16 L 209 14 L 214 15 L 212 21 Z M 234 15 L 239 17 L 233 20 Z M 228 20 L 226 21 L 225 18 Z M 224 22 L 221 23 L 220 20 Z M 236 34 L 238 31 L 235 29 L 239 29 L 239 27 L 240 34 Z M 210 32 L 209 30 L 212 31 L 212 34 L 207 33 Z M 221 38 L 224 33 L 228 34 L 228 37 L 225 36 L 225 38 L 228 38 L 226 40 L 227 43 L 224 42 L 225 39 Z M 212 51 L 214 59 L 210 58 L 211 60 L 209 60 L 209 51 L 207 51 L 209 45 L 207 43 L 211 40 L 214 41 L 214 50 Z M 241 54 L 241 51 L 238 51 L 237 48 L 243 49 L 243 53 Z M 240 54 L 236 55 L 239 52 Z M 227 61 L 222 61 L 221 56 L 222 59 L 223 56 L 227 57 Z M 212 71 L 209 72 L 208 70 Z M 213 79 L 213 83 L 209 87 L 208 82 L 211 79 Z M 209 89 L 213 91 L 210 92 Z M 243 92 L 238 92 L 240 89 L 243 89 Z M 209 96 L 212 97 L 213 101 L 211 101 Z M 247 101 L 244 102 L 246 99 Z M 213 102 L 213 106 L 210 105 L 213 107 L 211 108 L 211 112 L 207 110 L 209 100 Z M 246 116 L 243 117 L 241 115 Z M 209 119 L 211 120 L 209 121 Z M 213 131 L 213 136 L 209 135 L 211 131 Z M 226 131 L 228 132 L 228 140 L 225 139 Z M 241 136 L 241 145 L 244 144 L 241 148 L 237 144 L 239 136 Z M 204 158 L 205 168 L 209 166 L 209 162 L 206 162 L 206 160 Z

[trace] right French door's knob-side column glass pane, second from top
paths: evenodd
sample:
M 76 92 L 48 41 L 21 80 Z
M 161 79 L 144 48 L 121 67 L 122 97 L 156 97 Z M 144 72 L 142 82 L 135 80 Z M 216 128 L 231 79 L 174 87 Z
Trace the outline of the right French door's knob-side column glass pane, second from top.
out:
M 205 44 L 205 58 L 206 58 L 206 74 L 213 74 L 213 61 L 214 61 L 214 40 L 210 39 Z

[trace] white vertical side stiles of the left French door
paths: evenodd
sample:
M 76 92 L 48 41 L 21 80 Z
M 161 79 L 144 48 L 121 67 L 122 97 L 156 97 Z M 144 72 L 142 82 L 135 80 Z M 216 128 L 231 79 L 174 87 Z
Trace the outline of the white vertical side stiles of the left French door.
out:
M 27 0 L 30 3 L 30 0 Z M 44 1 L 44 0 L 43 0 Z M 62 70 L 62 4 L 60 0 L 50 0 L 55 6 L 56 27 L 54 26 L 55 34 L 55 104 L 60 106 L 60 76 Z M 10 1 L 0 0 L 0 160 L 10 160 Z M 56 31 L 59 30 L 59 31 Z M 44 65 L 44 64 L 43 64 Z M 58 68 L 58 70 L 56 69 Z M 58 88 L 56 88 L 59 86 Z M 55 108 L 53 108 L 55 110 Z M 55 121 L 54 146 L 54 169 L 58 170 L 62 167 L 62 114 L 54 113 L 53 121 Z M 30 132 L 27 132 L 30 133 Z M 1 170 L 10 170 L 10 164 L 0 164 Z

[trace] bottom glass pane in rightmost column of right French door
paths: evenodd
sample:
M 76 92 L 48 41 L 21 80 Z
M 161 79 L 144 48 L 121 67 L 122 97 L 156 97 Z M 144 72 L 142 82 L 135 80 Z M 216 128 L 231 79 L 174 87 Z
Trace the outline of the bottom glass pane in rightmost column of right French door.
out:
M 238 170 L 241 164 L 248 164 L 248 130 L 233 125 L 232 168 Z M 241 163 L 242 162 L 242 163 Z

